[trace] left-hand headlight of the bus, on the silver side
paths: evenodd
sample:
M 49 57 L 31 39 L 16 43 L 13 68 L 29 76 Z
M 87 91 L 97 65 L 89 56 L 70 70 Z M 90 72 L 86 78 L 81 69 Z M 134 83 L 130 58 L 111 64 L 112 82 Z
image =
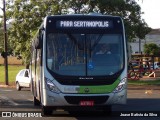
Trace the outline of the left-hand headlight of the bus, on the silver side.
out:
M 55 93 L 60 93 L 60 90 L 57 88 L 57 86 L 48 78 L 45 78 L 46 85 L 48 89 Z

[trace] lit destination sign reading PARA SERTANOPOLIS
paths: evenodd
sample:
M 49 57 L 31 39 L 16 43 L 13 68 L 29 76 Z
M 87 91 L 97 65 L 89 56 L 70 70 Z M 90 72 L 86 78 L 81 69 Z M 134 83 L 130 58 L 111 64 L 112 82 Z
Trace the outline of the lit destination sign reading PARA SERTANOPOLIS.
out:
M 57 21 L 58 28 L 112 28 L 111 21 Z

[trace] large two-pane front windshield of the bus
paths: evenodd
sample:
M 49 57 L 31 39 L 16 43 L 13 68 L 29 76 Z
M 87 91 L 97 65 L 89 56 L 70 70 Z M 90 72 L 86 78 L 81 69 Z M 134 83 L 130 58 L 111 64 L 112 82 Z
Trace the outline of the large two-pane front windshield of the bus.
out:
M 113 75 L 124 66 L 122 34 L 47 34 L 47 68 L 58 75 Z

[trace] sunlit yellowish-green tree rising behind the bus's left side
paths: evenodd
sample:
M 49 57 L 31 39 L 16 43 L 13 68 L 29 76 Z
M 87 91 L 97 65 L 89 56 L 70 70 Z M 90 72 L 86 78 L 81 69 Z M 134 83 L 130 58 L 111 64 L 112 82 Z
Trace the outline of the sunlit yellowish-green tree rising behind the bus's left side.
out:
M 43 18 L 50 14 L 60 14 L 61 8 L 55 0 L 14 0 L 7 5 L 8 19 L 13 19 L 9 29 L 9 40 L 17 56 L 22 56 L 28 68 L 30 43 Z

